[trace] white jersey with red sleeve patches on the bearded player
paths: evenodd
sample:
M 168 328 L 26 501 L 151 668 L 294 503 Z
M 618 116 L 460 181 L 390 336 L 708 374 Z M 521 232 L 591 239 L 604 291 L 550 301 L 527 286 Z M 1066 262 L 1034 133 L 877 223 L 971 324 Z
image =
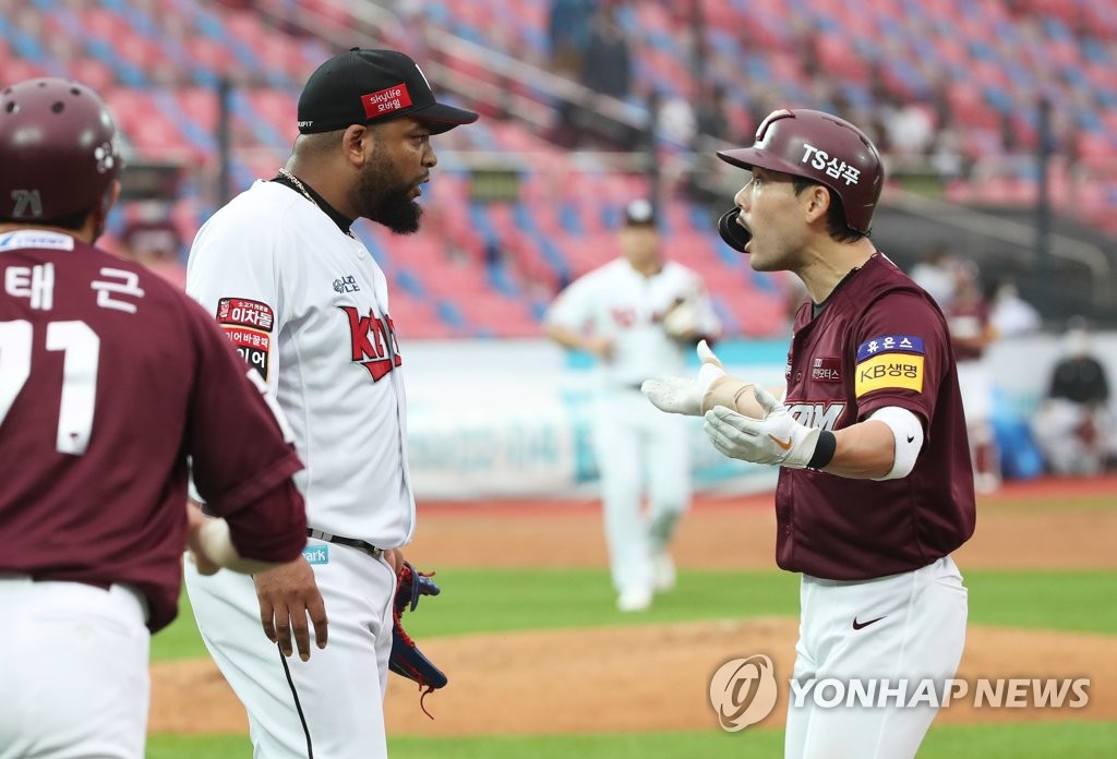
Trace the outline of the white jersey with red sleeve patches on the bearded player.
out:
M 383 271 L 307 198 L 256 182 L 199 230 L 187 291 L 267 382 L 314 529 L 411 539 L 407 401 Z

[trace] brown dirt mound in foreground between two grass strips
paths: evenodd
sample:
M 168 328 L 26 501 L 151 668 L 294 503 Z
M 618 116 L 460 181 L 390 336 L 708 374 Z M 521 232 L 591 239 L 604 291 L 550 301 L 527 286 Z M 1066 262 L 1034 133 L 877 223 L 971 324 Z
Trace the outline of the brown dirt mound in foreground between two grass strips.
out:
M 418 686 L 390 675 L 388 730 L 424 736 L 717 730 L 709 679 L 725 662 L 753 654 L 775 663 L 780 700 L 760 724 L 777 727 L 786 710 L 796 635 L 798 622 L 781 617 L 424 641 L 423 651 L 450 684 L 427 696 L 430 720 L 419 709 Z M 944 709 L 938 722 L 1117 719 L 1114 637 L 972 626 L 957 676 L 970 683 L 1089 678 L 1089 703 L 1081 709 L 975 709 L 971 692 Z M 209 660 L 152 666 L 151 731 L 244 732 L 247 724 Z

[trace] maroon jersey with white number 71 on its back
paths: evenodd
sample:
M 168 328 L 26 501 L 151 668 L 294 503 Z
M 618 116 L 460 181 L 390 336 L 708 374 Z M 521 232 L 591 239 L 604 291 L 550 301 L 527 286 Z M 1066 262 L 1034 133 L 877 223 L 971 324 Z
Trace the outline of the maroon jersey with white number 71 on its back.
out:
M 130 583 L 174 618 L 188 457 L 242 555 L 292 560 L 302 468 L 212 319 L 66 234 L 0 234 L 0 571 Z

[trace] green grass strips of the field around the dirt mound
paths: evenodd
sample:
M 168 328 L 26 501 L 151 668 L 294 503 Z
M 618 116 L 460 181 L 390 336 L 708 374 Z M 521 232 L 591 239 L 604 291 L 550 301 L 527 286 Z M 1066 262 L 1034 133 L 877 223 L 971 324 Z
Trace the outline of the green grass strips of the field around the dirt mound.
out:
M 1008 508 L 999 503 L 996 508 Z M 1102 510 L 1110 497 L 1068 501 L 1030 500 L 1028 510 Z M 963 567 L 965 571 L 965 567 Z M 1117 635 L 1113 588 L 1106 570 L 970 570 L 970 622 L 1032 630 Z M 440 567 L 437 614 L 413 614 L 408 630 L 421 640 L 523 630 L 662 624 L 750 616 L 795 616 L 798 576 L 777 570 L 682 570 L 676 592 L 657 598 L 647 614 L 620 615 L 604 569 L 476 569 Z M 431 602 L 428 602 L 431 603 Z M 183 597 L 179 619 L 152 641 L 153 661 L 206 656 Z M 484 609 L 484 614 L 478 613 Z M 509 694 L 509 698 L 529 694 Z M 393 759 L 677 759 L 781 757 L 783 731 L 748 729 L 580 736 L 479 736 L 389 738 Z M 154 734 L 150 759 L 248 759 L 245 736 Z M 997 726 L 934 726 L 920 759 L 1111 759 L 1117 722 L 1031 722 Z

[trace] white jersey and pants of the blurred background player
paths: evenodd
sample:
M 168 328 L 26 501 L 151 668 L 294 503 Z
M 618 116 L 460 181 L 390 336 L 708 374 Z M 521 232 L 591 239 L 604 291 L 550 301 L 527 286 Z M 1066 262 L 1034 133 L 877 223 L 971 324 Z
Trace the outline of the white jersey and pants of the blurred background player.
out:
M 638 391 L 648 377 L 686 372 L 689 346 L 671 338 L 662 324 L 679 300 L 697 304 L 698 332 L 720 332 L 701 279 L 675 262 L 645 277 L 618 258 L 575 280 L 547 314 L 552 324 L 613 344 L 612 358 L 601 368 L 592 420 L 610 573 L 622 596 L 650 599 L 653 561 L 666 553 L 690 502 L 690 420 L 660 413 Z M 645 487 L 647 513 L 641 510 Z

